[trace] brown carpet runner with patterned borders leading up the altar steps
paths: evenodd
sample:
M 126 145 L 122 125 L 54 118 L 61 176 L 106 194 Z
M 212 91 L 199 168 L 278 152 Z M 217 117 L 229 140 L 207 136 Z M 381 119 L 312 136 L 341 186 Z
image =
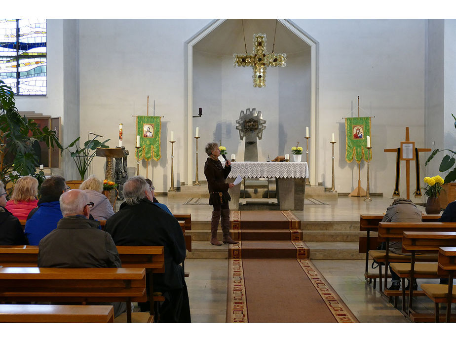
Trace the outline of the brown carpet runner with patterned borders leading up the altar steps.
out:
M 308 259 L 291 211 L 231 211 L 227 322 L 358 322 Z

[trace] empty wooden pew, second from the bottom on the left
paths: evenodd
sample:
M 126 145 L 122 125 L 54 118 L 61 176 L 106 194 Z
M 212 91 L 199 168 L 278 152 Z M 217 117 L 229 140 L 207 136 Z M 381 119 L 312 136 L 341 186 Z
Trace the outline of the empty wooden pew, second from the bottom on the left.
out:
M 0 267 L 0 302 L 146 301 L 144 268 Z

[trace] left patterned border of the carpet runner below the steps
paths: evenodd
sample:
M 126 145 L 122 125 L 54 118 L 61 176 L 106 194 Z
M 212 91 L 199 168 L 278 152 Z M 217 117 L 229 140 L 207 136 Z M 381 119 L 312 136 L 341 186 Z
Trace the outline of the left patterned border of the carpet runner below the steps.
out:
M 247 323 L 247 301 L 245 300 L 244 269 L 241 259 L 229 259 L 227 322 Z M 230 305 L 231 304 L 231 305 Z M 228 307 L 229 305 L 229 307 Z

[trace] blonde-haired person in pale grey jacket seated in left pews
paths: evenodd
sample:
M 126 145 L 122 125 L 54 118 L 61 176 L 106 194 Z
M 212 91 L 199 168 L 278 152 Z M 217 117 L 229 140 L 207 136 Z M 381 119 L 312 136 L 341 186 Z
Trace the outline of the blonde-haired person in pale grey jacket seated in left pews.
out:
M 79 186 L 89 197 L 89 201 L 93 202 L 93 208 L 90 209 L 90 214 L 95 220 L 108 220 L 114 215 L 114 209 L 110 201 L 102 193 L 103 182 L 95 176 L 90 176 Z

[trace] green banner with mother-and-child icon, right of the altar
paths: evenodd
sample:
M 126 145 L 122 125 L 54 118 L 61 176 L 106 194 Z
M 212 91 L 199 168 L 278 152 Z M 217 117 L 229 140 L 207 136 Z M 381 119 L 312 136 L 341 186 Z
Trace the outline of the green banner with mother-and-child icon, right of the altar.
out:
M 361 159 L 367 161 L 367 136 L 371 136 L 371 118 L 364 117 L 346 117 L 345 118 L 345 133 L 346 139 L 346 155 L 347 162 L 353 161 L 355 156 L 356 162 L 360 163 Z M 372 146 L 372 139 L 371 139 Z M 372 159 L 372 150 L 370 152 L 370 159 Z

